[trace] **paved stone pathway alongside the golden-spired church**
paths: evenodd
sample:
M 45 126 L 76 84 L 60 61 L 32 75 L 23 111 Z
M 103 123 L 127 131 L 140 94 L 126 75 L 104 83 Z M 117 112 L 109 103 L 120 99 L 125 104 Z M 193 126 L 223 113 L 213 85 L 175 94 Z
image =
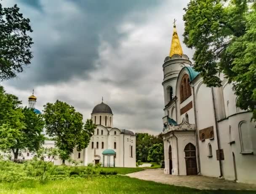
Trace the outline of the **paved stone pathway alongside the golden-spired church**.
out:
M 254 184 L 236 183 L 207 176 L 174 176 L 163 173 L 163 169 L 146 169 L 126 176 L 164 184 L 187 186 L 196 189 L 256 190 Z

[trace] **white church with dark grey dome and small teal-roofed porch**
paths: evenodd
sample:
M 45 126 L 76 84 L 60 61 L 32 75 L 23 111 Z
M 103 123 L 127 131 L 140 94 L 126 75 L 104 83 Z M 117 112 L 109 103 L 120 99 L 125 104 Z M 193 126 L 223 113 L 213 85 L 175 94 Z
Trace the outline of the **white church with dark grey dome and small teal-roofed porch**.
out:
M 71 158 L 81 165 L 98 164 L 105 167 L 136 167 L 136 136 L 132 131 L 113 127 L 111 108 L 102 102 L 93 108 L 91 119 L 96 129 L 87 148 L 74 149 Z M 54 161 L 61 165 L 62 160 Z M 65 164 L 69 164 L 65 161 Z M 69 164 L 71 165 L 71 164 Z

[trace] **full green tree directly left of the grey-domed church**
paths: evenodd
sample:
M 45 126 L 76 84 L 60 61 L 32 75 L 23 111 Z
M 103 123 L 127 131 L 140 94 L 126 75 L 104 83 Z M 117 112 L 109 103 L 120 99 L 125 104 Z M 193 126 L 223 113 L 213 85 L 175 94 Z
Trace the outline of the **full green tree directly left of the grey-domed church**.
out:
M 62 163 L 69 159 L 73 149 L 81 151 L 88 146 L 96 126 L 87 120 L 83 127 L 83 115 L 66 102 L 57 100 L 44 106 L 46 134 L 54 137 L 56 146 L 62 151 L 59 155 Z

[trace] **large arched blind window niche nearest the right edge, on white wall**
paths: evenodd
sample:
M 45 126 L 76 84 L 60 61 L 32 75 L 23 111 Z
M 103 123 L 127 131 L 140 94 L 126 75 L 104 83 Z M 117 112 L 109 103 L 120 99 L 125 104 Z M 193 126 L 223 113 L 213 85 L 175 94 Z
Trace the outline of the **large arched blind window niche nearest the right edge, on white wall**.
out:
M 246 121 L 241 121 L 239 123 L 239 135 L 240 135 L 240 144 L 241 144 L 242 154 L 252 153 L 253 147 L 252 147 L 251 131 Z

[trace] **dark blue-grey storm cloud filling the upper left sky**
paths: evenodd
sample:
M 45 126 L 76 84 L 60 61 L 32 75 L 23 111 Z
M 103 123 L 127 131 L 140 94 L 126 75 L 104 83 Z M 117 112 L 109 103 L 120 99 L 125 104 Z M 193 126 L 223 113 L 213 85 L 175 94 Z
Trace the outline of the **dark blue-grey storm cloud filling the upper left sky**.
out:
M 42 10 L 40 17 L 35 17 L 32 13 L 31 15 L 24 13 L 25 17 L 31 19 L 34 29 L 32 33 L 35 42 L 32 47 L 34 58 L 23 73 L 7 82 L 9 85 L 25 88 L 60 83 L 73 77 L 89 79 L 91 71 L 101 68 L 96 67 L 94 63 L 99 57 L 100 37 L 104 37 L 115 46 L 118 37 L 125 35 L 116 31 L 116 25 L 122 21 L 125 13 L 148 9 L 160 1 L 70 0 L 70 3 L 77 6 L 79 13 L 65 12 L 65 10 L 49 13 L 48 7 L 45 7 L 42 1 L 20 0 L 20 2 Z M 56 7 L 56 10 L 58 9 L 59 5 Z M 50 11 L 56 10 L 53 8 Z M 53 37 L 58 40 L 53 41 Z M 140 76 L 139 71 L 132 74 Z M 128 80 L 124 79 L 118 83 L 127 84 Z

